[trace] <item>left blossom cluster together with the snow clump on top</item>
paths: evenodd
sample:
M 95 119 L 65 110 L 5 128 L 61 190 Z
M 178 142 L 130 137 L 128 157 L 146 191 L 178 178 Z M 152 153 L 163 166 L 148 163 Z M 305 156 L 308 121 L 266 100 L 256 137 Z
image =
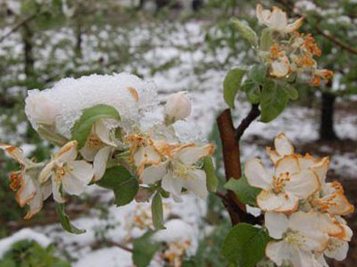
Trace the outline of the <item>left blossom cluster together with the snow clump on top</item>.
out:
M 202 159 L 212 155 L 212 144 L 195 142 L 197 136 L 183 142 L 177 134 L 191 111 L 186 93 L 170 95 L 162 112 L 152 83 L 126 73 L 93 75 L 29 91 L 25 110 L 37 133 L 61 147 L 51 160 L 37 163 L 21 149 L 0 144 L 21 165 L 10 180 L 20 206 L 29 205 L 27 219 L 50 195 L 57 203 L 79 196 L 112 166 L 124 166 L 135 177 L 139 201 L 156 191 L 178 201 L 183 190 L 200 198 L 208 194 Z

